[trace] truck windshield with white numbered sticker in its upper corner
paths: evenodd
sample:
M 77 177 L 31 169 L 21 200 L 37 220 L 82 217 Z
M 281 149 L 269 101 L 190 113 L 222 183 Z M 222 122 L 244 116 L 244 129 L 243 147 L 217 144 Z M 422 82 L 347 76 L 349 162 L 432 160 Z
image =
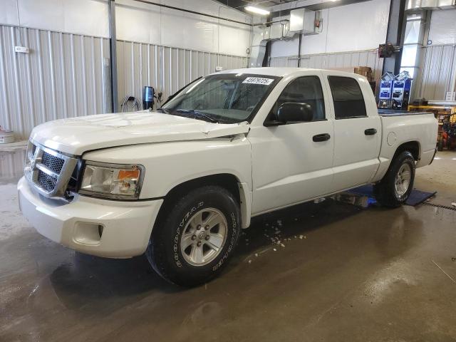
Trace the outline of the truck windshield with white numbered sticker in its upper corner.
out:
M 242 122 L 258 110 L 275 76 L 221 73 L 201 78 L 162 106 L 166 113 L 201 120 Z

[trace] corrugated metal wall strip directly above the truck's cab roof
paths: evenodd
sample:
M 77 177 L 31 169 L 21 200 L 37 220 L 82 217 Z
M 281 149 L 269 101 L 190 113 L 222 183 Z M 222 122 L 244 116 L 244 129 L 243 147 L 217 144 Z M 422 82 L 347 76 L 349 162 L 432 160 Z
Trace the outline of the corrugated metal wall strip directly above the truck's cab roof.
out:
M 270 66 L 298 66 L 298 56 L 271 58 Z M 356 66 L 369 66 L 374 71 L 374 78 L 381 76 L 383 59 L 378 58 L 377 49 L 341 53 L 318 53 L 301 56 L 302 68 L 336 69 L 351 71 Z

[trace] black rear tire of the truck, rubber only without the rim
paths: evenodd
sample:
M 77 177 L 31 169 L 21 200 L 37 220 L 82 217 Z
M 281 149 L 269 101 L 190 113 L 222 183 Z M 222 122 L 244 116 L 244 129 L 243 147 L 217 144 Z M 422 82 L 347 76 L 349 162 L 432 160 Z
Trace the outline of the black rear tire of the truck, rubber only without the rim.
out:
M 403 195 L 398 195 L 398 192 L 395 189 L 395 178 L 398 175 L 400 167 L 402 165 L 408 164 L 410 166 L 410 183 L 408 185 L 407 191 Z M 395 208 L 400 207 L 407 201 L 410 192 L 413 190 L 413 182 L 415 180 L 415 159 L 413 155 L 408 152 L 400 152 L 393 161 L 386 172 L 385 177 L 383 177 L 380 182 L 374 185 L 373 193 L 375 199 L 383 207 Z

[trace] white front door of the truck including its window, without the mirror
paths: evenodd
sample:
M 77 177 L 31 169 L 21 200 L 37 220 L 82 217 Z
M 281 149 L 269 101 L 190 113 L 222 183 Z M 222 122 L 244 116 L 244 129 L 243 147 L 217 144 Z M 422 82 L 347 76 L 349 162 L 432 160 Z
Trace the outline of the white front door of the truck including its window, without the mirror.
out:
M 252 143 L 252 214 L 304 202 L 331 189 L 333 120 L 326 115 L 321 75 L 291 81 L 266 122 L 276 120 L 280 105 L 289 102 L 309 106 L 312 120 L 254 127 L 248 135 Z

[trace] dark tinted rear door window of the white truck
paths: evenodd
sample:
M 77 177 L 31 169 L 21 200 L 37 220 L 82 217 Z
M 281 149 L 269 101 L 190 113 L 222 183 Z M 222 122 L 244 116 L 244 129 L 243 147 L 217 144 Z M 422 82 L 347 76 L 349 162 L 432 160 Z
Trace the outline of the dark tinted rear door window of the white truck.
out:
M 328 76 L 336 119 L 367 116 L 361 88 L 354 78 Z

